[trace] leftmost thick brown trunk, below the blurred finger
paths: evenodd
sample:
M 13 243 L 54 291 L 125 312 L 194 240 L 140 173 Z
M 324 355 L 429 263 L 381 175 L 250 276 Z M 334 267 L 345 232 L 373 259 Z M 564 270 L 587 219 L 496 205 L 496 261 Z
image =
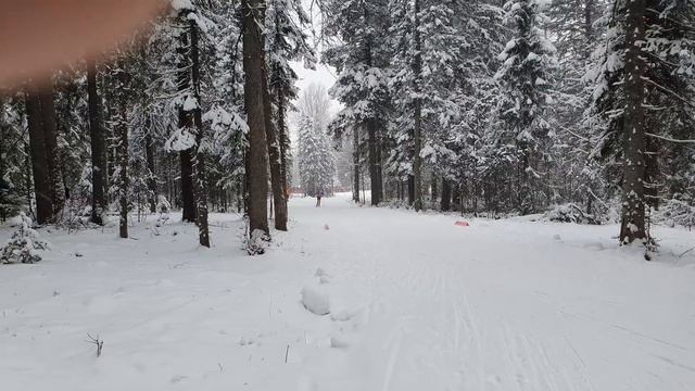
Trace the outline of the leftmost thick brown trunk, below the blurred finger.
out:
M 36 195 L 36 222 L 46 224 L 53 215 L 53 199 L 49 184 L 41 100 L 36 86 L 30 85 L 26 94 L 26 117 L 29 128 L 29 148 L 31 150 L 31 173 L 34 174 L 34 193 Z

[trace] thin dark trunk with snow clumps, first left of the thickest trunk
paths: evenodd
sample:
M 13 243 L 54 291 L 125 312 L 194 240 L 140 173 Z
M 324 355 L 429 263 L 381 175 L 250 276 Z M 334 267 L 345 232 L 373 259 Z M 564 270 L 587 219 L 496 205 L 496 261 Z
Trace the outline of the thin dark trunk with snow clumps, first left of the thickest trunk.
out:
M 200 99 L 200 59 L 198 47 L 198 25 L 190 22 L 191 31 L 191 78 L 193 81 L 193 97 L 198 103 L 193 112 L 195 123 L 195 156 L 193 159 L 193 172 L 195 178 L 195 215 L 198 218 L 198 232 L 200 245 L 210 248 L 210 228 L 207 226 L 207 180 L 205 171 L 205 152 L 203 143 L 203 119 Z

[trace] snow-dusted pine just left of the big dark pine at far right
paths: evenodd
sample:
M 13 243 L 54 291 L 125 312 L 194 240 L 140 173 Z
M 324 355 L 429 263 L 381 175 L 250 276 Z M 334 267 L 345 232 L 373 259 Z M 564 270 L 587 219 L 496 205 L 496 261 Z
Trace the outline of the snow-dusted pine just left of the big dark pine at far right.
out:
M 554 0 L 547 12 L 547 27 L 557 35 L 558 59 L 552 88 L 559 93 L 552 122 L 561 140 L 551 151 L 554 166 L 548 180 L 555 198 L 584 203 L 585 213 L 594 218 L 606 214 L 609 197 L 602 165 L 593 154 L 596 119 L 585 115 L 592 99 L 584 76 L 605 30 L 606 7 L 605 0 Z

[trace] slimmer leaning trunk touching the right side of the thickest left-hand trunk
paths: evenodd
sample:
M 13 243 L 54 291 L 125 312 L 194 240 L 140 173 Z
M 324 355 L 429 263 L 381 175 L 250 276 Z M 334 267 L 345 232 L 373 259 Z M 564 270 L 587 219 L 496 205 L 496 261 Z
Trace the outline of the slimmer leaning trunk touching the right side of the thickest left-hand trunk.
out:
M 285 199 L 285 189 L 282 187 L 282 159 L 280 157 L 280 144 L 278 136 L 273 124 L 273 105 L 270 104 L 270 94 L 268 92 L 268 78 L 265 64 L 262 68 L 263 73 L 263 103 L 265 115 L 265 135 L 268 144 L 268 157 L 270 159 L 270 187 L 273 189 L 273 204 L 275 213 L 275 229 L 287 230 L 287 200 Z

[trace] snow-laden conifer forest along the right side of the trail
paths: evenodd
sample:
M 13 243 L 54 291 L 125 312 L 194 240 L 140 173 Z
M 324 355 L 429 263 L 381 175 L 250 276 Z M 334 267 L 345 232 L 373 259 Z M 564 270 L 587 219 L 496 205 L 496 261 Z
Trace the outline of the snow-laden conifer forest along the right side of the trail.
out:
M 571 204 L 621 242 L 695 216 L 688 0 L 332 0 L 324 61 L 371 204 L 531 214 Z M 428 203 L 428 204 L 426 204 Z

